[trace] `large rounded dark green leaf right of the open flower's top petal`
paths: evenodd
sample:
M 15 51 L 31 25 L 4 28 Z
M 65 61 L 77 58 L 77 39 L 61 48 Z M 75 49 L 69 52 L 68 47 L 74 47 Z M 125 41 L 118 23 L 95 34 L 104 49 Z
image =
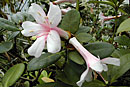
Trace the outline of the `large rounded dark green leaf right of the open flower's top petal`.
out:
M 80 13 L 77 10 L 71 10 L 65 14 L 60 28 L 75 33 L 79 29 Z

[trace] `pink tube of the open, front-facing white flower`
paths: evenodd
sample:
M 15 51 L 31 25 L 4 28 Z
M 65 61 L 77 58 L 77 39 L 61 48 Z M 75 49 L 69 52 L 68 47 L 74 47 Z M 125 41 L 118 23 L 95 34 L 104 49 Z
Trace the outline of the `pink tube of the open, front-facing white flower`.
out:
M 69 37 L 71 36 L 71 34 L 69 34 L 69 32 L 64 31 L 58 27 L 54 27 L 53 29 L 56 30 L 59 33 L 59 35 L 65 39 L 69 39 Z

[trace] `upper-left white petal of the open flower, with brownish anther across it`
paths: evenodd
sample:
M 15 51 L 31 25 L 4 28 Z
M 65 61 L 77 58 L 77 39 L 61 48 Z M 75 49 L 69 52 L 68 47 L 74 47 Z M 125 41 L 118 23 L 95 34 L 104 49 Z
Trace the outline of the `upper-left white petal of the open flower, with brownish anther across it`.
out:
M 35 18 L 37 23 L 44 23 L 46 14 L 38 4 L 33 3 L 32 6 L 29 7 L 29 13 Z

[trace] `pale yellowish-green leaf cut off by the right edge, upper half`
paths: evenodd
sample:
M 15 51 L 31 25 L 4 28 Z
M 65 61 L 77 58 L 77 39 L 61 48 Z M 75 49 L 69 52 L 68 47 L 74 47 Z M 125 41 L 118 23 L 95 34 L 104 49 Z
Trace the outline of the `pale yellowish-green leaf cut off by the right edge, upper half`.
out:
M 130 31 L 130 18 L 123 21 L 117 29 L 117 34 L 124 31 Z

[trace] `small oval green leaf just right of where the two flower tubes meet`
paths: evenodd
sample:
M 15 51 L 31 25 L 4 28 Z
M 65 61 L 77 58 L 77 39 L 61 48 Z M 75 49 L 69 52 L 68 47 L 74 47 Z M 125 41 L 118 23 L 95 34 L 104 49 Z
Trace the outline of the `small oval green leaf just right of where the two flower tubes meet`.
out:
M 87 33 L 79 33 L 75 36 L 81 43 L 89 42 L 92 39 L 92 36 Z

